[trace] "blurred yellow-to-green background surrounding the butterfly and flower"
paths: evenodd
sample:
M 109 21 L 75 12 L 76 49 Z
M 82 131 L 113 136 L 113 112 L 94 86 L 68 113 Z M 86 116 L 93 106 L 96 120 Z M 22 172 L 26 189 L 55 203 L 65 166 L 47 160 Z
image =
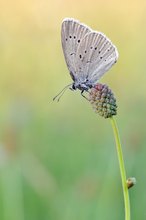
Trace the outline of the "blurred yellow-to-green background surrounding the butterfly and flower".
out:
M 117 121 L 132 220 L 146 219 L 146 1 L 0 2 L 0 220 L 123 220 L 121 179 L 110 120 L 96 115 L 71 82 L 60 28 L 73 17 L 104 32 L 118 63 L 101 82 Z

